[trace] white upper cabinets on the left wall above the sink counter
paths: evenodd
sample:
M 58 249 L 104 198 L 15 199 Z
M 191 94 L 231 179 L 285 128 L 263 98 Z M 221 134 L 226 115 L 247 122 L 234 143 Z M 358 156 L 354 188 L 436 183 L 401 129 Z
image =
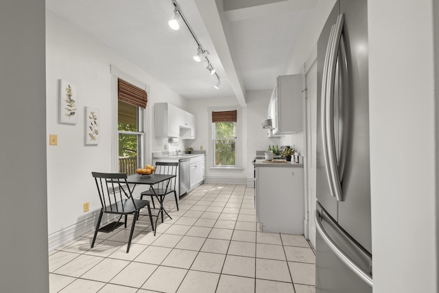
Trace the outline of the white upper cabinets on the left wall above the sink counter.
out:
M 155 137 L 195 139 L 195 115 L 169 103 L 155 103 L 154 135 Z

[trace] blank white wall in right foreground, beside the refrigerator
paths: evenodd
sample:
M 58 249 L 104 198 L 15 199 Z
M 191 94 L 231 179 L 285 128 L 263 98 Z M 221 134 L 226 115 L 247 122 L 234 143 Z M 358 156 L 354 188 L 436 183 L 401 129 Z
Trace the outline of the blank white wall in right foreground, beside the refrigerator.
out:
M 374 293 L 439 290 L 438 16 L 434 0 L 368 1 Z

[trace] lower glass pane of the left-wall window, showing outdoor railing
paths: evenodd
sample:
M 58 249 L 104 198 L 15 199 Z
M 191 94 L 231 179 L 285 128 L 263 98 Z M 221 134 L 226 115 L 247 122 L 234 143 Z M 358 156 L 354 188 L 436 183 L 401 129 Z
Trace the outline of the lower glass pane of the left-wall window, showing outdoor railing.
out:
M 134 174 L 138 165 L 138 135 L 119 134 L 119 172 Z

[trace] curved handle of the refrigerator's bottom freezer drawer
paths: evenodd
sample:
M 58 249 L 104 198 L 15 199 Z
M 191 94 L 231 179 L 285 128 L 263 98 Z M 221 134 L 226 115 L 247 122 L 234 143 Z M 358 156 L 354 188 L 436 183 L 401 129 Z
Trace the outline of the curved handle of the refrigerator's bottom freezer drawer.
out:
M 316 209 L 316 213 L 314 214 L 314 221 L 316 222 L 316 228 L 318 233 L 322 236 L 323 241 L 331 248 L 333 253 L 337 255 L 345 264 L 350 268 L 358 277 L 360 277 L 363 281 L 365 281 L 370 287 L 373 285 L 372 277 L 366 272 L 363 268 L 357 266 L 357 264 L 346 255 L 343 250 L 340 249 L 335 242 L 329 237 L 328 233 L 324 231 L 322 226 L 322 222 L 320 221 L 320 213 Z

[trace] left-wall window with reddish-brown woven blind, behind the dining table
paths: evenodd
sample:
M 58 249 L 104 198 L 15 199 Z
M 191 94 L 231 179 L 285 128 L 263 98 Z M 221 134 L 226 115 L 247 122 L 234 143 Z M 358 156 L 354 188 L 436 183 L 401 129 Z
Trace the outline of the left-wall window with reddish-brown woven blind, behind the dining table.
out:
M 134 174 L 145 161 L 144 108 L 147 93 L 128 82 L 117 82 L 117 135 L 119 172 Z

